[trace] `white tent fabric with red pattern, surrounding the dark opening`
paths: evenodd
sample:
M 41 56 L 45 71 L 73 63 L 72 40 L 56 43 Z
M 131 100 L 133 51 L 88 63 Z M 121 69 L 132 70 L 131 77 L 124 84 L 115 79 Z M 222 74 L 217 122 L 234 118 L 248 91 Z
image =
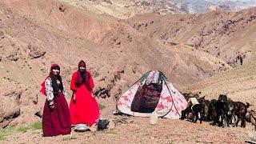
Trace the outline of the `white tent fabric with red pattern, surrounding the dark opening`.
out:
M 158 76 L 155 74 L 158 74 Z M 140 113 L 131 110 L 134 95 L 138 90 L 141 90 L 146 82 L 149 81 L 149 78 L 158 79 L 158 81 L 162 80 L 162 92 L 154 113 L 158 114 L 158 117 L 178 119 L 181 111 L 186 109 L 186 99 L 170 82 L 166 82 L 166 77 L 158 70 L 150 70 L 148 73 L 142 75 L 142 78 L 140 78 L 138 82 L 135 82 L 133 86 L 126 90 L 126 92 L 118 99 L 118 110 L 123 114 L 130 114 L 138 117 L 150 117 L 152 113 Z M 154 80 L 151 82 L 156 81 Z

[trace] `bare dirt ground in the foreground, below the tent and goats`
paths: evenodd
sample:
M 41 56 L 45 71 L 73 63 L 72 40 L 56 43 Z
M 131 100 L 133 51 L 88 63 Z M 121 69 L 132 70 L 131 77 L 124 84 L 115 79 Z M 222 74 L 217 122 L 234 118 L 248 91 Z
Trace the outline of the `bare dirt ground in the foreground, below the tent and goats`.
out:
M 43 138 L 42 130 L 29 130 L 6 137 L 3 143 L 244 143 L 253 133 L 246 128 L 210 126 L 209 122 L 192 123 L 182 120 L 158 119 L 150 125 L 150 118 L 130 118 L 134 122 L 119 123 L 112 130 L 90 131 Z

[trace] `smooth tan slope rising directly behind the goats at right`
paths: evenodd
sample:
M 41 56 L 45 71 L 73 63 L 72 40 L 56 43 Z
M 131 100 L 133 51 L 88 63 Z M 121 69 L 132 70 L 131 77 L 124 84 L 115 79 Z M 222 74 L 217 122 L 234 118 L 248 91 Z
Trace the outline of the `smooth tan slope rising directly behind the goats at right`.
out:
M 206 98 L 218 98 L 219 94 L 227 94 L 234 101 L 249 102 L 255 109 L 256 102 L 256 66 L 247 64 L 225 73 L 216 74 L 186 88 L 186 91 L 201 91 Z

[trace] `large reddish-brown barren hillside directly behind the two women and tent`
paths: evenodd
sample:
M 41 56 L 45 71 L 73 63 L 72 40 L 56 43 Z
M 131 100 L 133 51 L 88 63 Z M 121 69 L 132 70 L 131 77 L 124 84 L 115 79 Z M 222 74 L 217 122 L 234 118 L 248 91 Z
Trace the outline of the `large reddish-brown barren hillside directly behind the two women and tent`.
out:
M 45 99 L 38 90 L 52 62 L 62 67 L 68 89 L 70 74 L 84 59 L 94 74 L 95 94 L 113 98 L 151 69 L 162 70 L 178 88 L 230 69 L 221 59 L 190 46 L 166 46 L 115 18 L 88 13 L 51 0 L 1 2 L 0 74 L 7 85 L 1 97 L 9 93 L 10 83 L 22 87 L 14 89 L 18 98 L 11 103 L 18 103 L 18 118 L 16 113 L 2 113 L 3 127 L 38 119 L 34 114 Z

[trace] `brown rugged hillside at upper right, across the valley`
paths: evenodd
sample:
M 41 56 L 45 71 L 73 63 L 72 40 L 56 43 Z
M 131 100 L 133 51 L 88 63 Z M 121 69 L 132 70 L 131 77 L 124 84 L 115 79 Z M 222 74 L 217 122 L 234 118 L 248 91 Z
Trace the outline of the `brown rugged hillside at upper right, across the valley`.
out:
M 222 58 L 230 66 L 255 61 L 256 10 L 193 14 L 146 14 L 126 21 L 166 45 L 185 43 Z

